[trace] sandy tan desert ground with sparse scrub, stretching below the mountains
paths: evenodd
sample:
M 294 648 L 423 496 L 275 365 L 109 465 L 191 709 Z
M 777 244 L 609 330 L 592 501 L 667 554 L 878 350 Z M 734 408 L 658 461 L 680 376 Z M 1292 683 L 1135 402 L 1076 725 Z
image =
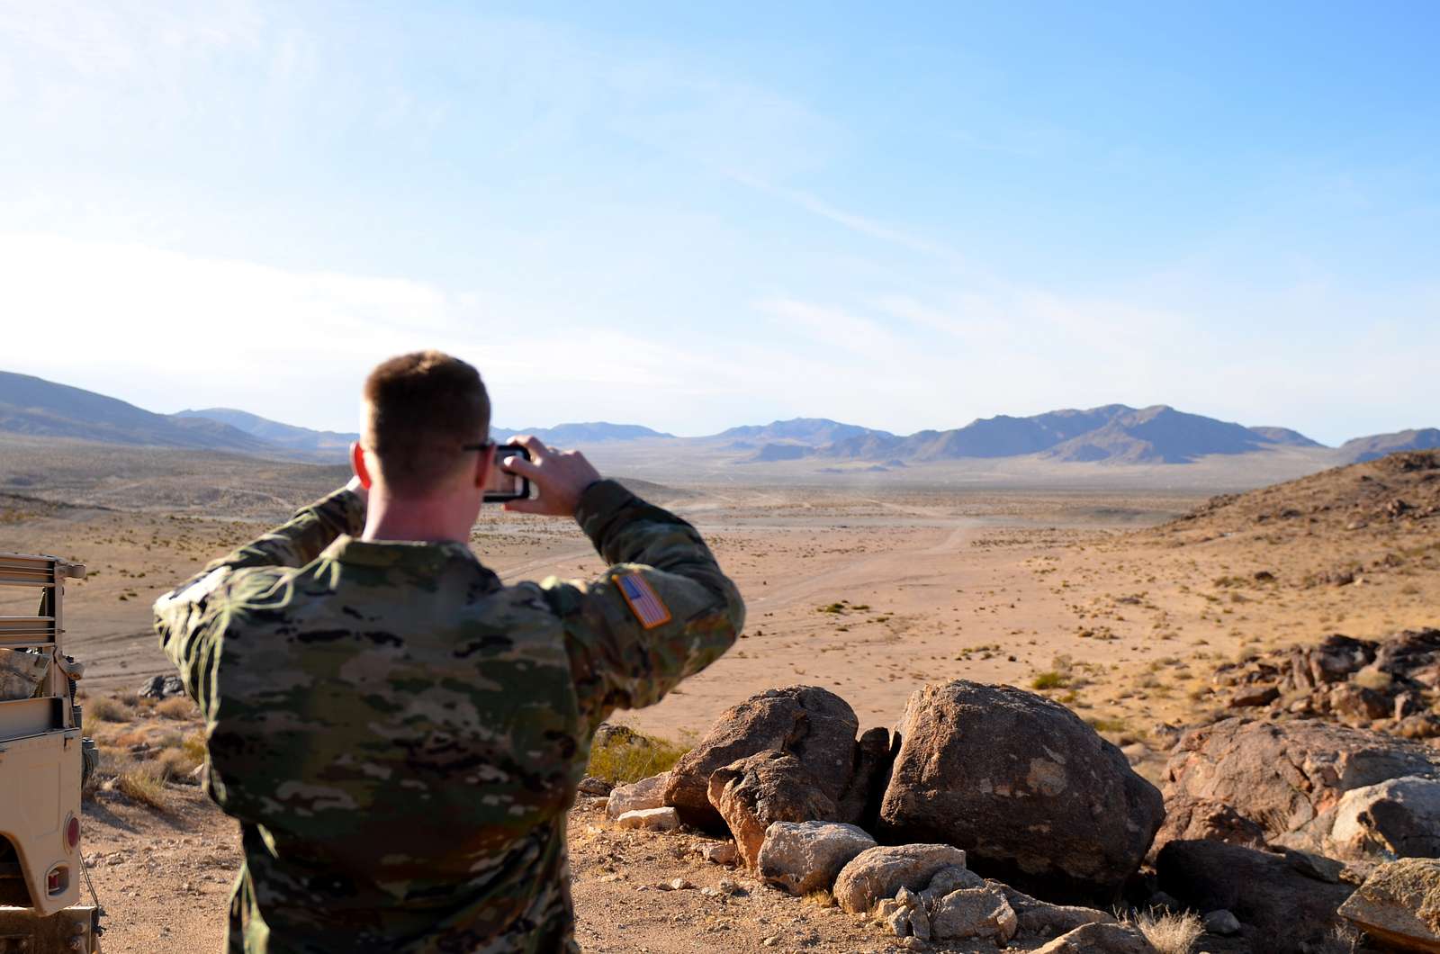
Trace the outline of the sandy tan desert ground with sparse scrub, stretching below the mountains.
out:
M 148 788 L 111 783 L 86 801 L 107 950 L 216 950 L 238 844 L 233 826 L 184 784 L 200 757 L 193 709 L 134 697 L 145 677 L 171 672 L 150 604 L 338 486 L 343 471 L 223 455 L 189 455 L 179 467 L 167 451 L 115 451 L 98 470 L 91 453 L 4 448 L 0 550 L 89 568 L 66 591 L 69 651 L 89 666 L 88 729 L 114 771 L 166 749 L 173 762 Z M 1218 664 L 1329 633 L 1433 625 L 1440 604 L 1437 522 L 1367 519 L 1364 500 L 1325 474 L 1283 499 L 1208 513 L 1202 481 L 1007 490 L 943 473 L 891 484 L 662 477 L 631 483 L 704 533 L 747 604 L 746 630 L 724 659 L 660 705 L 616 716 L 678 744 L 768 687 L 831 689 L 865 728 L 893 725 L 922 685 L 965 677 L 1064 702 L 1156 780 L 1171 726 L 1224 706 L 1210 679 Z M 507 581 L 603 569 L 566 520 L 487 510 L 472 546 Z M 0 614 L 14 611 L 0 602 Z M 602 817 L 577 810 L 570 829 L 586 950 L 858 951 L 894 941 L 697 862 L 696 836 L 645 839 L 611 832 Z M 657 888 L 674 878 L 697 891 Z M 721 889 L 723 879 L 746 893 Z

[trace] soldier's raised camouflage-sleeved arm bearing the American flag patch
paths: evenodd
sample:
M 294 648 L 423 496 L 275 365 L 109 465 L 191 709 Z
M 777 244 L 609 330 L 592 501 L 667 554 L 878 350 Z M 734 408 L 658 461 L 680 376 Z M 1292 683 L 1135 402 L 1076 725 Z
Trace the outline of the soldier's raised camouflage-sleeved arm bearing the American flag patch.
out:
M 589 584 L 547 579 L 564 620 L 580 705 L 598 725 L 660 702 L 730 648 L 744 625 L 740 591 L 693 526 L 602 480 L 576 520 L 612 566 Z

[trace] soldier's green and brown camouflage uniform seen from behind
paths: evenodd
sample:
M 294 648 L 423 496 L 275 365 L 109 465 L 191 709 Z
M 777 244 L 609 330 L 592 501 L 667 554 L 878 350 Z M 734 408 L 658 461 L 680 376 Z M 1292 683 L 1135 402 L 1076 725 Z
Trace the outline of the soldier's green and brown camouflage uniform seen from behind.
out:
M 240 821 L 228 951 L 579 950 L 564 824 L 590 736 L 719 659 L 744 607 L 694 527 L 619 484 L 576 517 L 609 571 L 505 587 L 461 543 L 353 539 L 341 490 L 156 602 Z

